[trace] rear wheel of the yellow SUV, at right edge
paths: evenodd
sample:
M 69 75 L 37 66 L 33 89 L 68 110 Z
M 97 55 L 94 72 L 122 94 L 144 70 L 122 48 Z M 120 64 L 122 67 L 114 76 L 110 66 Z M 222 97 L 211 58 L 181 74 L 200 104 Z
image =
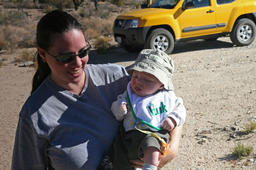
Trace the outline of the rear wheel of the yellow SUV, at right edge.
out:
M 230 33 L 230 39 L 237 46 L 249 45 L 255 39 L 255 30 L 256 26 L 252 20 L 248 18 L 240 19 L 235 22 Z

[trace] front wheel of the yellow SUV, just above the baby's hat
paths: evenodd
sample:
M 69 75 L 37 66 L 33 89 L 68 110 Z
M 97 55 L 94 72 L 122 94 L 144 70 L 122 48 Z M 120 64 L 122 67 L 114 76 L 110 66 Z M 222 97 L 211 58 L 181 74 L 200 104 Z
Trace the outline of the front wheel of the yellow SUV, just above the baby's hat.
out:
M 145 49 L 160 49 L 166 54 L 171 54 L 174 47 L 172 34 L 164 28 L 154 29 L 146 38 Z

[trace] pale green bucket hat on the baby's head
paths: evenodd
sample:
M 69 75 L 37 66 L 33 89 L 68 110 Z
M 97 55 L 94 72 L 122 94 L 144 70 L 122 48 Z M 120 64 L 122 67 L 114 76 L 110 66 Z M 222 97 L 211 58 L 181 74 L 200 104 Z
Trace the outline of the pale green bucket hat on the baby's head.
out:
M 132 75 L 133 70 L 153 74 L 165 85 L 166 90 L 174 90 L 172 85 L 174 63 L 169 55 L 159 49 L 142 50 L 135 63 L 125 67 L 125 69 L 129 75 Z

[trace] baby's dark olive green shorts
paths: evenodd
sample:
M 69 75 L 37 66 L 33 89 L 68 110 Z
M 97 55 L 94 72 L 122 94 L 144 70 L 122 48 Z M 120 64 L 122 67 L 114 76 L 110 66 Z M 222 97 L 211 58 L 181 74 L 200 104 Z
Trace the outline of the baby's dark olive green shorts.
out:
M 150 129 L 147 129 L 147 131 L 154 132 L 164 139 L 165 142 L 169 142 L 170 140 L 170 135 L 165 129 L 158 132 Z M 143 158 L 144 152 L 148 147 L 157 148 L 163 154 L 164 147 L 156 137 L 140 132 L 139 130 L 125 132 L 124 127 L 120 126 L 114 144 L 105 156 L 105 159 L 108 159 L 108 161 L 111 162 L 112 168 L 109 169 L 132 170 L 130 166 L 131 162 L 129 162 L 129 160 Z

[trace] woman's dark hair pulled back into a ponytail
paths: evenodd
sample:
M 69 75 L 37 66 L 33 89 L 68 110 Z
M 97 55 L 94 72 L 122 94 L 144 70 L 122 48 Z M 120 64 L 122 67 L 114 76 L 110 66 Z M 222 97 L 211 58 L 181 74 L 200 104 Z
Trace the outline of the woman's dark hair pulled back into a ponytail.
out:
M 56 36 L 62 36 L 71 29 L 79 29 L 82 32 L 86 27 L 82 26 L 70 14 L 54 10 L 44 15 L 37 24 L 37 45 L 38 47 L 48 50 L 52 47 L 52 42 Z M 38 52 L 34 56 L 37 60 L 37 71 L 33 77 L 31 94 L 37 90 L 46 77 L 51 73 L 51 69 L 47 63 L 44 63 Z

